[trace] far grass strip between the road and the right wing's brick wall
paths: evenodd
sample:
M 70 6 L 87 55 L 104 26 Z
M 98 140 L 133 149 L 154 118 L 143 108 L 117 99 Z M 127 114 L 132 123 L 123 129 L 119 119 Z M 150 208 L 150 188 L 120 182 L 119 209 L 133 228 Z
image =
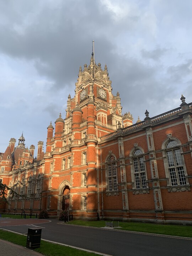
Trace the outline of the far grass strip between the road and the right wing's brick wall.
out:
M 83 221 L 72 220 L 68 224 L 94 226 L 97 228 L 105 227 L 105 221 Z M 138 223 L 138 222 L 119 222 L 120 230 L 137 231 L 144 233 L 154 233 L 161 235 L 172 235 L 192 238 L 192 226 L 186 225 L 163 225 L 155 223 Z

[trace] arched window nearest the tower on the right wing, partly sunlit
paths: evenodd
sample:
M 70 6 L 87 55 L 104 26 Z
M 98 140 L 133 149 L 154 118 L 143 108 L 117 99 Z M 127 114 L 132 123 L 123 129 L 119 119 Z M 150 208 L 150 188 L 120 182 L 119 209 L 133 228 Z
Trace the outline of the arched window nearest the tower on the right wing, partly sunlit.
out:
M 108 191 L 117 191 L 117 167 L 116 159 L 113 155 L 108 158 L 107 161 L 107 179 L 108 179 Z

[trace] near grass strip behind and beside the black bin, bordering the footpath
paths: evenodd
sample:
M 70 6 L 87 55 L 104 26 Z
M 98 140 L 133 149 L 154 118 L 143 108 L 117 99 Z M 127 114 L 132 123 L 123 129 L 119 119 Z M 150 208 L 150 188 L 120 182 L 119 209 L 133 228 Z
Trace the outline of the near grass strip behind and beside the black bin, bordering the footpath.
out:
M 0 229 L 0 239 L 26 247 L 27 236 L 24 235 L 15 234 Z M 37 248 L 34 251 L 46 256 L 96 256 L 96 254 L 91 252 L 81 251 L 68 246 L 52 244 L 43 240 L 41 240 L 40 248 Z

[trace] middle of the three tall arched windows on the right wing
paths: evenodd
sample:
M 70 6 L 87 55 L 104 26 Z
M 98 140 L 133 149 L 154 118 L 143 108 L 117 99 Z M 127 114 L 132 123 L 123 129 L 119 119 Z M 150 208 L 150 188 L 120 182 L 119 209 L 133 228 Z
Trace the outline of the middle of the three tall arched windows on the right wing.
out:
M 134 180 L 136 189 L 147 188 L 145 164 L 144 158 L 141 156 L 142 154 L 143 152 L 140 149 L 136 149 L 133 153 Z

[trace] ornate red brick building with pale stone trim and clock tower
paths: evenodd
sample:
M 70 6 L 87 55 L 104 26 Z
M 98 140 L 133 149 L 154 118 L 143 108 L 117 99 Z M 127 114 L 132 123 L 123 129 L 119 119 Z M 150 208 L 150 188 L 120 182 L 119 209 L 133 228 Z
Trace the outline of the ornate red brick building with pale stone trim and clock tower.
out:
M 74 218 L 192 223 L 192 103 L 144 121 L 122 115 L 107 66 L 79 69 L 75 97 L 47 130 L 46 152 L 10 140 L 0 178 L 25 197 L 9 195 L 5 211 Z M 66 196 L 69 194 L 69 197 Z M 2 207 L 2 206 L 1 206 Z

